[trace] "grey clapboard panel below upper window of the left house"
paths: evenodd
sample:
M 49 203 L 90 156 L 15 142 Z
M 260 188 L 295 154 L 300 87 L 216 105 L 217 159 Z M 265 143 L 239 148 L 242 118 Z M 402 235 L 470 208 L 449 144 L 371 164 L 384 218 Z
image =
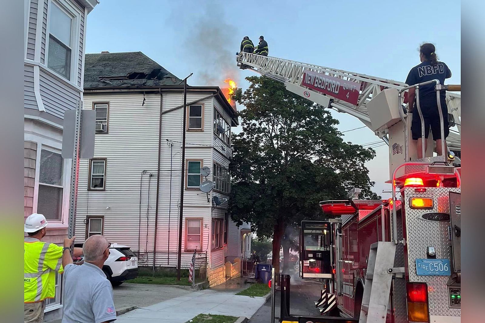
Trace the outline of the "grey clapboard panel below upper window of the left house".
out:
M 40 95 L 46 112 L 64 119 L 64 112 L 75 109 L 81 100 L 81 93 L 66 86 L 49 72 L 40 69 Z

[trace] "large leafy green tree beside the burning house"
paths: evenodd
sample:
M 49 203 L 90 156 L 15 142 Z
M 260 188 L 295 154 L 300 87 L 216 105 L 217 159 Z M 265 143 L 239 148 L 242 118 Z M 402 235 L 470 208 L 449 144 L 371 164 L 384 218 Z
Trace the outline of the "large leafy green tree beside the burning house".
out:
M 250 222 L 259 236 L 271 237 L 279 255 L 288 226 L 322 219 L 318 202 L 342 199 L 352 187 L 361 198 L 378 198 L 364 163 L 372 149 L 344 142 L 330 112 L 286 91 L 268 77 L 246 77 L 249 88 L 234 99 L 242 132 L 233 136 L 229 208 L 239 225 Z M 279 272 L 279 257 L 273 257 Z

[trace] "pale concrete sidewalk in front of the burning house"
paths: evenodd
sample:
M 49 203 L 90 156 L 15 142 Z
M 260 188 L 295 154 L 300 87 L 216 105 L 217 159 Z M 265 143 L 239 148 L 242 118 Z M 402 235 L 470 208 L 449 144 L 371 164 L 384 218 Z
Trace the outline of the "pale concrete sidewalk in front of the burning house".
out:
M 228 288 L 218 286 L 138 308 L 118 316 L 116 323 L 185 323 L 201 313 L 251 318 L 266 302 L 266 297 L 235 295 L 243 285 L 225 287 Z

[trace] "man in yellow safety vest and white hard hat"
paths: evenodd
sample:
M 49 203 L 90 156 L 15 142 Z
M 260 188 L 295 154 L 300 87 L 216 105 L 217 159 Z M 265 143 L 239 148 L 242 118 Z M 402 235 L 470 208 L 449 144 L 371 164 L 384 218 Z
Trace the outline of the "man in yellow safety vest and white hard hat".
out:
M 44 320 L 44 300 L 55 296 L 56 272 L 64 271 L 62 255 L 71 249 L 75 237 L 64 240 L 64 248 L 42 242 L 47 233 L 44 215 L 34 213 L 25 220 L 24 231 L 24 323 L 38 323 Z M 75 256 L 82 254 L 75 248 Z

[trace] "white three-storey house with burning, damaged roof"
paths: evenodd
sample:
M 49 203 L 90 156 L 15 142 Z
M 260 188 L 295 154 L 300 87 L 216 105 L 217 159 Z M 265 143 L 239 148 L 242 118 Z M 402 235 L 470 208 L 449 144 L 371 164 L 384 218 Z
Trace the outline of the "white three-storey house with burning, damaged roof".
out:
M 101 233 L 139 252 L 139 266 L 176 267 L 184 126 L 181 268 L 196 249 L 196 268 L 215 285 L 226 280 L 227 266 L 240 272 L 239 263 L 227 262 L 248 244 L 224 203 L 238 120 L 218 87 L 190 86 L 182 121 L 180 82 L 142 52 L 86 54 L 83 108 L 96 110 L 97 134 L 95 157 L 80 163 L 76 236 Z M 215 182 L 209 194 L 199 189 L 205 180 Z

